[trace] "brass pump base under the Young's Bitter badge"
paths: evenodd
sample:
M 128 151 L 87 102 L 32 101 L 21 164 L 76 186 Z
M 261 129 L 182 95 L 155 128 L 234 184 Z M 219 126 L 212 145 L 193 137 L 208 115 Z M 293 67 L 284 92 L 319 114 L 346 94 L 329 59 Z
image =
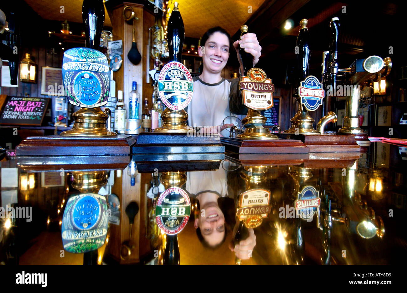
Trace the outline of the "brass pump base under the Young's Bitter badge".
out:
M 267 118 L 260 114 L 260 112 L 252 109 L 247 110 L 247 115 L 243 118 L 242 122 L 245 125 L 245 132 L 236 136 L 243 140 L 249 139 L 278 139 L 278 136 L 270 132 L 270 129 L 265 128 Z

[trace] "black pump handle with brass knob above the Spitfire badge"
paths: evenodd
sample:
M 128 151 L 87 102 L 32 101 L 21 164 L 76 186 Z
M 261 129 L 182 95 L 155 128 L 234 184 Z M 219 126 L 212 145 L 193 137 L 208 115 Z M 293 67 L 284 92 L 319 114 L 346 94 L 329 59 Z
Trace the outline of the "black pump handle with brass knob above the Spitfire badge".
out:
M 297 54 L 298 59 L 298 70 L 299 70 L 299 81 L 303 81 L 308 76 L 309 59 L 311 57 L 311 50 L 309 48 L 309 31 L 306 27 L 308 20 L 305 18 L 300 21 L 300 32 L 298 33 L 297 42 L 295 46 L 299 48 L 299 54 Z

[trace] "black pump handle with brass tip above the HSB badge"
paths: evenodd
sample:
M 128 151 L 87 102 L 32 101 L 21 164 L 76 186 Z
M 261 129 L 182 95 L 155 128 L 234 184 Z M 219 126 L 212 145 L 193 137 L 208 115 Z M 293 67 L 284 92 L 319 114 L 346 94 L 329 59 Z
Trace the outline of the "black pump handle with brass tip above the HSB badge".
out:
M 178 2 L 174 2 L 174 10 L 168 20 L 167 42 L 170 53 L 169 61 L 181 62 L 182 46 L 184 45 L 185 28 L 181 13 L 178 10 Z

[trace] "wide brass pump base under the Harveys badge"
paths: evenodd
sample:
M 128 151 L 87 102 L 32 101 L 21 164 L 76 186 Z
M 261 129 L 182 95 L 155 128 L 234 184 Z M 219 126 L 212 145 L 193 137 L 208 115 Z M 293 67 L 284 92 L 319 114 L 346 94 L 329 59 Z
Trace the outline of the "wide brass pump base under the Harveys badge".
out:
M 61 136 L 85 136 L 85 137 L 105 137 L 117 136 L 114 131 L 106 128 L 107 114 L 103 113 L 100 107 L 81 108 L 72 117 L 75 118 L 74 127 L 63 131 Z

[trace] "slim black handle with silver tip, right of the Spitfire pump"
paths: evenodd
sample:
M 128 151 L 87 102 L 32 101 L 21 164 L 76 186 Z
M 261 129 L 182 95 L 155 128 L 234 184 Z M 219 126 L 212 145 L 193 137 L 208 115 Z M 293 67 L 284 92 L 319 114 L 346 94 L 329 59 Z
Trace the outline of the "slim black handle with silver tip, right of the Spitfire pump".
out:
M 334 17 L 330 23 L 330 42 L 329 42 L 329 54 L 328 54 L 328 80 L 332 87 L 332 90 L 336 88 L 336 79 L 338 73 L 338 36 L 339 36 L 339 18 Z

